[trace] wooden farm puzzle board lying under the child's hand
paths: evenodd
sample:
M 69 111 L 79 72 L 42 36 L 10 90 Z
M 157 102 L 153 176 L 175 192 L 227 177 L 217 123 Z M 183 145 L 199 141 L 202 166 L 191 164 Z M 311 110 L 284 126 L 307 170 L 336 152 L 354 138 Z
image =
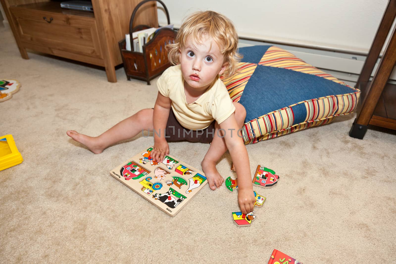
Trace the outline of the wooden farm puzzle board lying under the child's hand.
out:
M 202 171 L 173 156 L 153 161 L 151 150 L 139 152 L 110 175 L 173 217 L 208 181 Z

